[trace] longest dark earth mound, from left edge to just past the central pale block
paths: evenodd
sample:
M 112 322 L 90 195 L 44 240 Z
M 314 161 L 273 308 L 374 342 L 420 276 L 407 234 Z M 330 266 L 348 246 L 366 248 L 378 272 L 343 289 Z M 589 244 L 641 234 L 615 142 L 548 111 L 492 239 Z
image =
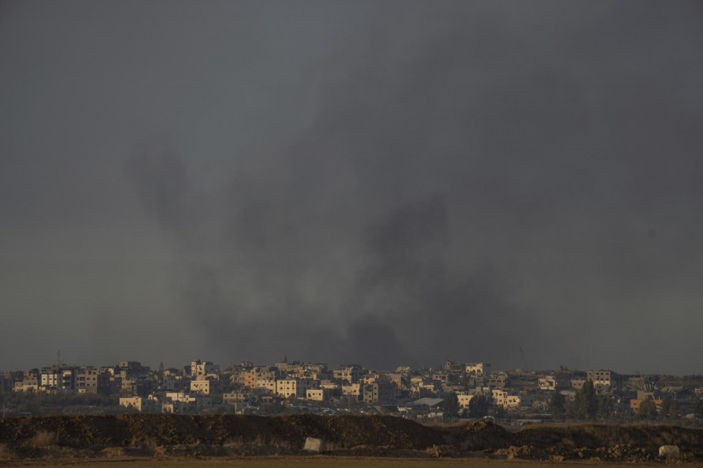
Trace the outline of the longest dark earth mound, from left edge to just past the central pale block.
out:
M 305 438 L 322 438 L 337 448 L 378 446 L 424 450 L 442 443 L 437 431 L 390 416 L 291 415 L 108 415 L 8 418 L 0 443 L 29 443 L 53 434 L 60 446 L 93 448 L 254 444 L 302 448 Z

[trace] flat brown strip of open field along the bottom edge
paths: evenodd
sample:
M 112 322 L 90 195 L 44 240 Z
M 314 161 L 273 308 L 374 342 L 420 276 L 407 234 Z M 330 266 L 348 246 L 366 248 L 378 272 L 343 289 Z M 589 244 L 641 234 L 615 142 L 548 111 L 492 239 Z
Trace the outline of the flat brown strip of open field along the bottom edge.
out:
M 526 460 L 486 460 L 481 458 L 462 459 L 416 459 L 416 458 L 380 458 L 380 457 L 236 457 L 236 458 L 199 458 L 199 459 L 131 459 L 131 460 L 45 460 L 5 462 L 8 467 L 62 467 L 81 466 L 98 468 L 538 468 L 544 466 L 558 467 L 564 465 L 586 467 L 607 466 L 610 468 L 632 468 L 633 463 L 619 462 L 543 462 Z M 637 463 L 638 467 L 662 467 L 656 463 Z M 685 467 L 703 467 L 703 464 L 685 463 Z

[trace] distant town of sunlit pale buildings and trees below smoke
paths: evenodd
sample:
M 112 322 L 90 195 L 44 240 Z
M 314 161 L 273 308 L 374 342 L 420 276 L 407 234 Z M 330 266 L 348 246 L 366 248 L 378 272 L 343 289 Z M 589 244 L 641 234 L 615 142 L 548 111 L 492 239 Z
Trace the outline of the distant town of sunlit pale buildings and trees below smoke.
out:
M 434 369 L 328 368 L 297 360 L 221 368 L 193 360 L 151 369 L 53 364 L 0 372 L 2 417 L 117 412 L 280 415 L 390 414 L 420 421 L 666 421 L 699 425 L 703 376 L 621 375 L 612 370 L 494 370 L 446 360 Z

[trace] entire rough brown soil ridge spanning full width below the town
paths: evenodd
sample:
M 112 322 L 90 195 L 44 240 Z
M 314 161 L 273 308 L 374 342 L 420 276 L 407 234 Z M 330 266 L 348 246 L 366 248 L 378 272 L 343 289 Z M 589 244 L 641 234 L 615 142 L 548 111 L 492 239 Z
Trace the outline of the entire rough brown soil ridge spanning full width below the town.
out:
M 574 424 L 510 432 L 483 420 L 428 427 L 392 416 L 95 415 L 0 421 L 0 460 L 23 457 L 302 454 L 308 437 L 330 455 L 658 460 L 678 446 L 703 460 L 703 429 Z

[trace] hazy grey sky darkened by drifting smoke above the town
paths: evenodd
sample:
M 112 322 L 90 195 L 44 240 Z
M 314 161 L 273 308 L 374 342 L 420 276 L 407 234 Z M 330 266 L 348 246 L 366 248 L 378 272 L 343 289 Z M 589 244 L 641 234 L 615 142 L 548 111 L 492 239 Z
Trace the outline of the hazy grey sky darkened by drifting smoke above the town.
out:
M 702 373 L 699 1 L 1 1 L 0 369 Z

